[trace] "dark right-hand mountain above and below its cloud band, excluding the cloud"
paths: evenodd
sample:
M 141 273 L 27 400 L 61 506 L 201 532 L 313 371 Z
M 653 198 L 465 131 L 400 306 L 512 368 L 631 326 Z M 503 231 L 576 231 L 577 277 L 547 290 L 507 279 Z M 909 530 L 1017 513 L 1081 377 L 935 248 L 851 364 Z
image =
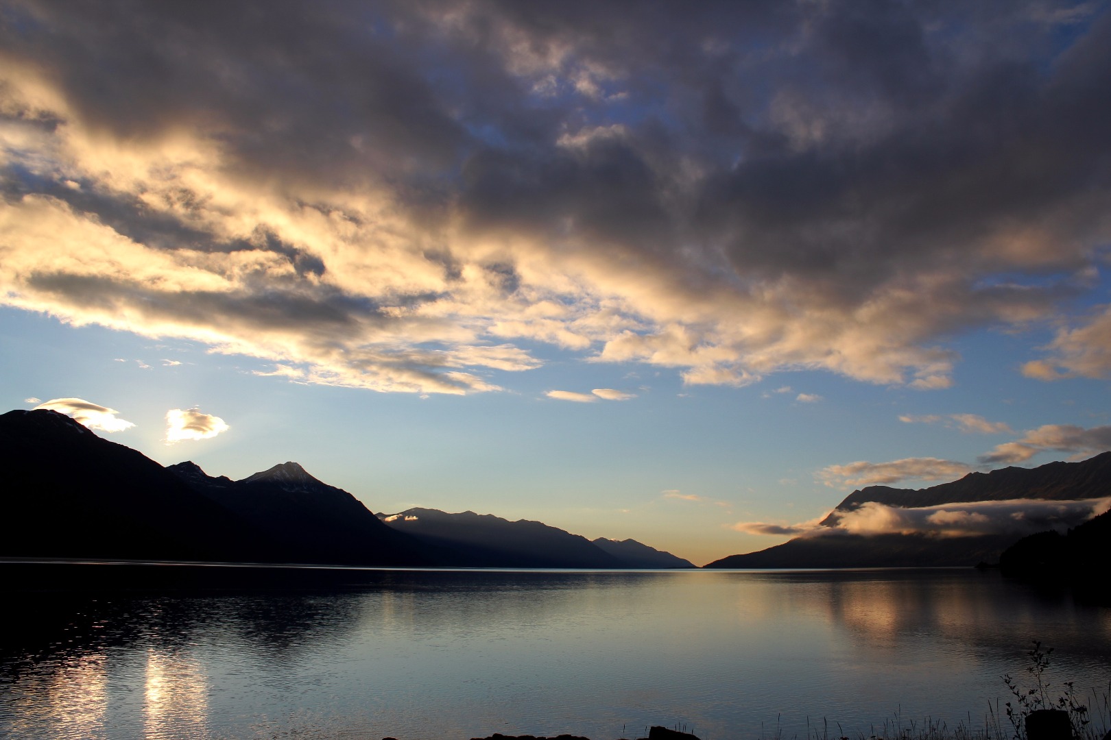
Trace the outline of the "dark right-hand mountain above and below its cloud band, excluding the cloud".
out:
M 969 537 L 930 535 L 852 535 L 837 529 L 841 515 L 868 501 L 899 508 L 1012 499 L 1080 500 L 1111 491 L 1111 452 L 1080 463 L 1049 463 L 1037 468 L 1007 467 L 970 473 L 959 480 L 917 490 L 869 486 L 852 491 L 822 520 L 819 530 L 755 553 L 731 555 L 704 568 L 871 568 L 973 566 L 995 562 L 1022 533 Z M 1083 527 L 1085 525 L 1081 525 Z M 1080 527 L 1078 527 L 1079 529 Z M 1060 535 L 1055 535 L 1060 537 Z M 1037 543 L 1053 540 L 1034 535 Z M 1032 550 L 1041 546 L 1030 546 Z M 1045 551 L 1052 545 L 1045 545 Z M 1057 550 L 1053 550 L 1057 551 Z M 1087 551 L 1087 550 L 1085 550 Z M 1055 557 L 1055 556 L 1054 556 Z

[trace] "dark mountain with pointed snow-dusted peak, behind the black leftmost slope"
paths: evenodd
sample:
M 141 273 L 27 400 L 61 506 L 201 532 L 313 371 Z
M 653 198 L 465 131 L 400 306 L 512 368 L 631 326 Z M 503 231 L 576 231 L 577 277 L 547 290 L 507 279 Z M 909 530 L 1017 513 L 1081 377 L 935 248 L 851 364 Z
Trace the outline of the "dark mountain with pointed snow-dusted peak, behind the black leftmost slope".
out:
M 242 480 L 209 476 L 192 462 L 168 468 L 207 496 L 281 543 L 286 559 L 337 565 L 432 565 L 423 547 L 387 527 L 362 501 L 282 463 Z

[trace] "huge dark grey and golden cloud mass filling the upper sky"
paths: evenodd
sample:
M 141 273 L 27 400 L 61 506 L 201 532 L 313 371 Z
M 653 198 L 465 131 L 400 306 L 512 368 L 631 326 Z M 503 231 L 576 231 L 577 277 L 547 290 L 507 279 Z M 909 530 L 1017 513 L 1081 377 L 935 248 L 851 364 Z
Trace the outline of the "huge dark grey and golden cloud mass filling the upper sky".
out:
M 557 351 L 929 391 L 961 332 L 1042 322 L 1074 328 L 1028 375 L 1108 376 L 1111 310 L 1070 316 L 1105 13 L 329 8 L 6 9 L 0 304 L 379 392 Z

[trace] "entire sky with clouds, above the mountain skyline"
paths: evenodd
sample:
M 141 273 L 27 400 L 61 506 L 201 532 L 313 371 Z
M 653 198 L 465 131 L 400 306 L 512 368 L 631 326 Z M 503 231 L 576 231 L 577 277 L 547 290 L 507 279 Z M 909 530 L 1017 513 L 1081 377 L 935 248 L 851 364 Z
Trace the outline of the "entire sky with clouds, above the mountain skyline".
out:
M 0 405 L 701 565 L 1111 448 L 1107 2 L 0 1 Z

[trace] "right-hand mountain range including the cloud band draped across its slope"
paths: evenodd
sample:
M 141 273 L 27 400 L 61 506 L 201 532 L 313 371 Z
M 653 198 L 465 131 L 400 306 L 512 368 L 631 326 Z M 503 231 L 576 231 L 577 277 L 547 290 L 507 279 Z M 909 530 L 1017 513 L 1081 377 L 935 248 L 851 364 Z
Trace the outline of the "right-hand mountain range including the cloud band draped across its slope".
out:
M 1079 524 L 1074 519 L 1090 517 L 1097 500 L 1107 497 L 1111 497 L 1111 453 L 1080 463 L 970 473 L 959 480 L 917 490 L 869 486 L 852 491 L 811 531 L 782 545 L 731 555 L 703 567 L 870 568 L 998 562 L 1008 547 L 1031 530 Z M 1039 501 L 1060 505 L 1038 506 Z M 1074 501 L 1079 505 L 1067 505 Z M 879 526 L 888 521 L 888 530 Z M 915 521 L 931 525 L 932 529 L 915 530 Z M 879 524 L 864 534 L 862 527 L 854 526 L 861 523 Z M 952 529 L 939 523 L 950 523 Z M 974 526 L 959 529 L 970 524 Z M 1047 535 L 1035 541 L 1052 543 L 1054 537 Z M 1108 543 L 1103 540 L 1104 557 Z M 1038 547 L 1031 546 L 1033 550 Z

